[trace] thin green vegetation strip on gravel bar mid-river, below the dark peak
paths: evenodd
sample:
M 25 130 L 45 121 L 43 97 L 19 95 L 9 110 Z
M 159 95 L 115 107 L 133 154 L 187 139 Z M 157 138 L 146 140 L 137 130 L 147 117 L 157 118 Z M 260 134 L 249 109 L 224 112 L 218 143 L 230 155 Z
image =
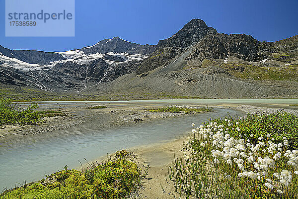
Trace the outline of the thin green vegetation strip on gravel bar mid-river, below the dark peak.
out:
M 204 106 L 204 107 L 182 107 L 182 106 L 165 106 L 161 108 L 148 109 L 149 112 L 210 112 L 213 108 Z

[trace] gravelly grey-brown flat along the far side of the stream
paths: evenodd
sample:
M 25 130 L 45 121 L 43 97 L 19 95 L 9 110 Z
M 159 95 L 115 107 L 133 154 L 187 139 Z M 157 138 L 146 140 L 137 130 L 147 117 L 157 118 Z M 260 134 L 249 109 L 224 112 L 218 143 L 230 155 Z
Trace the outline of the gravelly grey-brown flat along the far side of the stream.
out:
M 89 106 L 88 106 L 89 107 Z M 87 109 L 87 107 L 73 107 L 59 109 L 66 116 L 46 117 L 39 125 L 3 125 L 0 126 L 0 143 L 14 139 L 17 136 L 34 135 L 37 133 L 51 133 L 94 120 L 100 121 L 100 128 L 135 125 L 138 122 L 152 119 L 176 117 L 185 113 L 149 112 L 148 108 L 160 107 L 156 105 L 110 107 Z M 57 109 L 50 109 L 57 110 Z

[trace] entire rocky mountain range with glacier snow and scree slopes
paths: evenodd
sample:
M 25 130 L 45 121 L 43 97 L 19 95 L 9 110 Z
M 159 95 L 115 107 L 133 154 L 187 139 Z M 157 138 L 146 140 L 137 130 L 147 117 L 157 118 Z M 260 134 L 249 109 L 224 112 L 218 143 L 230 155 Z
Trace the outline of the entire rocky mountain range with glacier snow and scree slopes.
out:
M 298 35 L 262 42 L 218 33 L 201 19 L 157 45 L 114 37 L 61 53 L 0 48 L 0 84 L 61 95 L 293 97 L 298 96 L 297 69 Z

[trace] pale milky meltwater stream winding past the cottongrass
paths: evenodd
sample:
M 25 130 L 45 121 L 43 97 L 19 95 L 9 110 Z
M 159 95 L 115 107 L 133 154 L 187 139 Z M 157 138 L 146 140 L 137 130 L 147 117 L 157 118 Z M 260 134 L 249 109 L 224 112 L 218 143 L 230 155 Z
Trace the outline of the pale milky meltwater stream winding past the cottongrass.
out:
M 214 112 L 146 121 L 130 127 L 101 130 L 98 121 L 48 134 L 21 136 L 0 143 L 0 188 L 40 180 L 65 165 L 79 168 L 78 160 L 84 163 L 84 158 L 95 160 L 117 150 L 175 139 L 190 133 L 192 122 L 200 125 L 227 113 L 244 115 L 240 111 L 215 108 Z

